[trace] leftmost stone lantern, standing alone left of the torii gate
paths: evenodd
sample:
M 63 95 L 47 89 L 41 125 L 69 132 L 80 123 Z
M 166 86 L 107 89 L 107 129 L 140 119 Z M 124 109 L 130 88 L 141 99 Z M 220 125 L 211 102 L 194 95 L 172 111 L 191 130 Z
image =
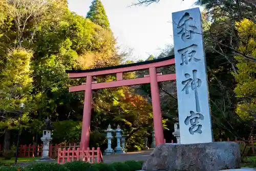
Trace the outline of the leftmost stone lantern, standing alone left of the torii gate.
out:
M 42 157 L 39 160 L 36 161 L 51 161 L 49 157 L 49 148 L 50 148 L 50 142 L 52 141 L 52 130 L 53 130 L 53 125 L 51 124 L 51 120 L 49 117 L 45 120 L 45 124 L 41 126 L 42 130 Z

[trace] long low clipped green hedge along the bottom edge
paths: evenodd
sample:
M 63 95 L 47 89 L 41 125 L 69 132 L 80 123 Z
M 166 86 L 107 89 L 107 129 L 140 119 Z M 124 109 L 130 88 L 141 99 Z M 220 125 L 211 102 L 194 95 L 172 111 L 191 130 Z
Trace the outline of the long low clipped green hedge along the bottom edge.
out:
M 86 163 L 69 162 L 65 164 L 56 163 L 36 163 L 26 167 L 2 166 L 0 171 L 136 171 L 141 170 L 143 161 L 128 160 L 125 162 L 106 163 Z

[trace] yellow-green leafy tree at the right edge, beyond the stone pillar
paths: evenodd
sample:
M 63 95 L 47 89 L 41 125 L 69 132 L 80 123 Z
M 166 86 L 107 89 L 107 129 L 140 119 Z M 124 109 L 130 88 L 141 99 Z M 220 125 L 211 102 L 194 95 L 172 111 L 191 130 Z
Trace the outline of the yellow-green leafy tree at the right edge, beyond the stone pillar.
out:
M 239 50 L 244 54 L 256 57 L 256 24 L 249 19 L 237 22 L 238 35 L 241 44 Z M 248 42 L 244 44 L 244 42 Z M 237 80 L 237 86 L 234 89 L 239 103 L 237 114 L 243 121 L 249 121 L 254 126 L 256 116 L 256 62 L 236 56 L 238 61 L 238 74 L 234 74 Z

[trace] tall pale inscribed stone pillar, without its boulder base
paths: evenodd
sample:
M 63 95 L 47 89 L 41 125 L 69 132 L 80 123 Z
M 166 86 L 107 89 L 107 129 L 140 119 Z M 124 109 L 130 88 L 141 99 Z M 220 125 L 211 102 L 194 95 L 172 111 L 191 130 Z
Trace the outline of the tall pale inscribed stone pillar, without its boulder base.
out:
M 181 143 L 212 142 L 200 9 L 174 12 L 172 23 Z

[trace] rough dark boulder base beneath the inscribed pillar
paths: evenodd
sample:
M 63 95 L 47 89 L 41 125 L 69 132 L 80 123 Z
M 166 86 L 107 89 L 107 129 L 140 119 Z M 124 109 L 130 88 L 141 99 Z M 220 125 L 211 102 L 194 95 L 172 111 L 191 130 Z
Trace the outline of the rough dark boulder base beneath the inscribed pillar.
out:
M 142 170 L 215 171 L 240 168 L 236 142 L 160 144 L 143 163 Z

